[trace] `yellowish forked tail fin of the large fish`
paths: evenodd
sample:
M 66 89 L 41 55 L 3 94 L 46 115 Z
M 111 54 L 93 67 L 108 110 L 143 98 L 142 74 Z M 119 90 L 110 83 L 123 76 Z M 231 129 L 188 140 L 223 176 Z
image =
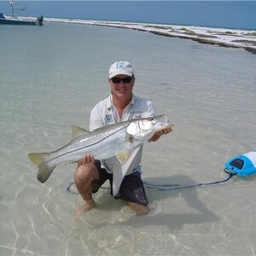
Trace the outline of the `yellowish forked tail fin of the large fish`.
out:
M 51 172 L 55 169 L 55 166 L 50 166 L 49 162 L 45 161 L 47 153 L 31 153 L 27 154 L 28 158 L 33 164 L 38 166 L 38 181 L 45 183 L 49 178 Z

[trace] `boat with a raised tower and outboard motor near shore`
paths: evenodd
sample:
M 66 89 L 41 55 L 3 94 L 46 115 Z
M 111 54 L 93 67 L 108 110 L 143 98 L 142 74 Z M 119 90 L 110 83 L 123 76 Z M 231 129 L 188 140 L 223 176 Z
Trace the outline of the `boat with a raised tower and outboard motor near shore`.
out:
M 0 13 L 0 24 L 8 24 L 8 25 L 37 25 L 42 26 L 44 17 L 39 15 L 38 18 L 35 19 L 28 19 L 23 17 L 18 17 L 19 10 L 26 10 L 26 6 L 20 8 L 19 2 L 10 1 L 12 13 L 9 17 L 5 17 L 3 13 Z

